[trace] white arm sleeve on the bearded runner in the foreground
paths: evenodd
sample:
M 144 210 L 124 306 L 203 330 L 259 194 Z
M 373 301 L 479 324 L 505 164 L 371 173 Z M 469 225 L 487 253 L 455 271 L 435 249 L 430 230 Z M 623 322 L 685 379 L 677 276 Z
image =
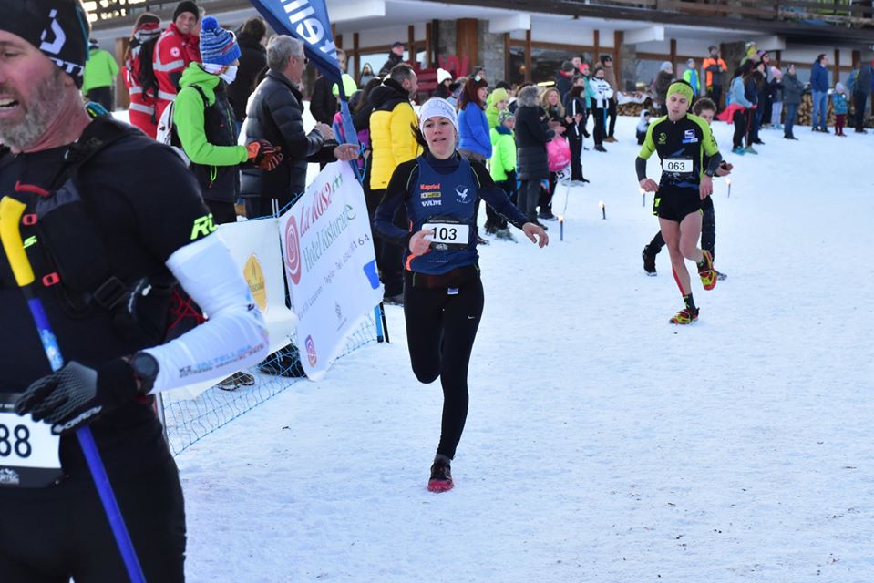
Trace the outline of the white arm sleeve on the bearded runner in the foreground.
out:
M 159 363 L 152 393 L 220 381 L 267 356 L 262 313 L 219 236 L 180 248 L 170 255 L 167 267 L 209 319 L 170 343 L 144 351 Z

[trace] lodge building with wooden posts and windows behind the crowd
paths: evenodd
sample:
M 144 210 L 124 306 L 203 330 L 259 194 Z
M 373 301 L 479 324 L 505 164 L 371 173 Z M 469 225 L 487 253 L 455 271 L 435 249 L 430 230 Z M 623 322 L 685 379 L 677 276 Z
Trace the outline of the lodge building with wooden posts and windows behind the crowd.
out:
M 177 3 L 85 4 L 94 20 L 92 36 L 120 62 L 136 15 L 149 10 L 167 23 Z M 245 0 L 197 4 L 227 28 L 257 15 Z M 483 66 L 492 85 L 502 79 L 540 82 L 553 79 L 561 61 L 573 55 L 592 63 L 605 54 L 612 56 L 621 86 L 632 91 L 648 87 L 664 61 L 678 76 L 688 58 L 700 65 L 710 45 L 722 47 L 731 69 L 750 40 L 771 53 L 772 64 L 795 63 L 802 81 L 821 53 L 829 57 L 833 84 L 874 57 L 871 1 L 327 0 L 327 6 L 350 73 L 357 77 L 365 63 L 377 72 L 389 46 L 401 41 L 406 60 L 421 71 L 423 94 L 434 87 L 437 66 L 455 77 Z M 119 89 L 122 106 L 126 92 Z

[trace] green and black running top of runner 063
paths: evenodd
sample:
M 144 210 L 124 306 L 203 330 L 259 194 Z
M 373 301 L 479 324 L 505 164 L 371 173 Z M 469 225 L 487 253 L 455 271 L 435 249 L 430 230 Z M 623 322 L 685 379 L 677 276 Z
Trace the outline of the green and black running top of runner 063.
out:
M 698 189 L 701 174 L 714 176 L 722 161 L 707 121 L 692 114 L 678 121 L 664 116 L 650 124 L 636 159 L 638 181 L 646 178 L 646 160 L 654 152 L 662 160 L 660 189 Z

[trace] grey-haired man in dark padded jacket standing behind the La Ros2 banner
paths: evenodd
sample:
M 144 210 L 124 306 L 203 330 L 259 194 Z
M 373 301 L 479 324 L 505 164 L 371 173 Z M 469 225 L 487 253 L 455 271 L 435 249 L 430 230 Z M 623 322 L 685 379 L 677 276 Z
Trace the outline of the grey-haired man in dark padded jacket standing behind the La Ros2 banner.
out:
M 282 209 L 302 194 L 310 162 L 358 157 L 355 145 L 337 145 L 330 126 L 316 123 L 309 133 L 303 129 L 303 95 L 298 89 L 306 67 L 303 43 L 291 36 L 274 36 L 267 46 L 267 65 L 267 77 L 255 88 L 246 109 L 246 141 L 266 139 L 282 147 L 285 159 L 272 171 L 243 173 L 241 196 L 250 219 L 272 214 L 272 199 Z

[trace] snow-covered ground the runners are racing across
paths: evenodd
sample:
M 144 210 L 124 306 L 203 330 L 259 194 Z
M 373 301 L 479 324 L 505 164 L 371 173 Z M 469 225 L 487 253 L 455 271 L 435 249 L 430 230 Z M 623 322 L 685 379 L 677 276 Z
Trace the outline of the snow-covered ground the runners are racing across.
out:
M 701 319 L 675 327 L 667 252 L 642 270 L 635 121 L 584 153 L 564 241 L 550 223 L 545 250 L 481 249 L 456 488 L 426 490 L 440 388 L 389 307 L 392 343 L 180 455 L 190 581 L 874 580 L 874 136 L 766 130 L 729 154 L 729 277 L 694 281 Z

